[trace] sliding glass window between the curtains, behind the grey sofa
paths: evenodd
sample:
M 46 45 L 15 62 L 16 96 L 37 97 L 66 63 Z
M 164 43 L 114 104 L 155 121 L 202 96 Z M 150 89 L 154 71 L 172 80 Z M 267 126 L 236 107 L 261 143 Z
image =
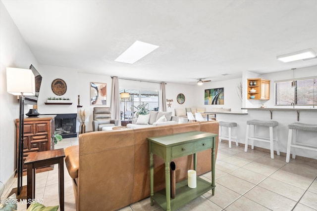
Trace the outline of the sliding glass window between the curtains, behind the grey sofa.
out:
M 130 93 L 129 99 L 120 99 L 120 111 L 122 115 L 125 114 L 126 118 L 133 118 L 135 116 L 135 112 L 137 111 L 137 106 L 140 104 L 147 103 L 148 109 L 150 111 L 159 110 L 159 91 L 140 89 L 120 89 L 120 93 L 124 91 Z

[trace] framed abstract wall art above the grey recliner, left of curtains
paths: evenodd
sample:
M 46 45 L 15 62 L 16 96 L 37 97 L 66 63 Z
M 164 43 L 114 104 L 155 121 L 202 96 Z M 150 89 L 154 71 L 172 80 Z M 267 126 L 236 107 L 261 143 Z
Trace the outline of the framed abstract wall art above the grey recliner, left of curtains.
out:
M 106 105 L 107 84 L 90 83 L 90 105 Z

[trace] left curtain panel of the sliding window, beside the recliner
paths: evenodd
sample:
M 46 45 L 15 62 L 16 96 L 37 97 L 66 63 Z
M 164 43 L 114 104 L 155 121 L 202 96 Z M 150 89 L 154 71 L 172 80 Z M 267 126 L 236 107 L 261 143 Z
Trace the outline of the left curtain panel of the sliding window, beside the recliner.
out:
M 112 77 L 111 84 L 111 119 L 120 120 L 120 98 L 119 98 L 119 80 L 118 77 Z

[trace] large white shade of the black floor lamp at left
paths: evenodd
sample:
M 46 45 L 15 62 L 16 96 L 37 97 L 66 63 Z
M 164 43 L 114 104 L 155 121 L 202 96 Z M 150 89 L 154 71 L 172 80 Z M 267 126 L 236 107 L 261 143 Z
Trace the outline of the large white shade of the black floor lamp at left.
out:
M 32 70 L 7 67 L 6 91 L 13 95 L 35 95 L 35 77 Z

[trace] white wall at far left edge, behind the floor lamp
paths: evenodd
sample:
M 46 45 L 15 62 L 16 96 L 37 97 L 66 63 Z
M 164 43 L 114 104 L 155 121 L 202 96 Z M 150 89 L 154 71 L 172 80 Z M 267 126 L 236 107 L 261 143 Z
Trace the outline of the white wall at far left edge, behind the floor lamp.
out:
M 8 183 L 16 168 L 15 119 L 19 118 L 19 101 L 6 92 L 6 67 L 28 69 L 38 66 L 28 45 L 0 1 L 0 181 Z M 25 111 L 29 110 L 25 106 Z M 2 184 L 0 183 L 0 193 Z

